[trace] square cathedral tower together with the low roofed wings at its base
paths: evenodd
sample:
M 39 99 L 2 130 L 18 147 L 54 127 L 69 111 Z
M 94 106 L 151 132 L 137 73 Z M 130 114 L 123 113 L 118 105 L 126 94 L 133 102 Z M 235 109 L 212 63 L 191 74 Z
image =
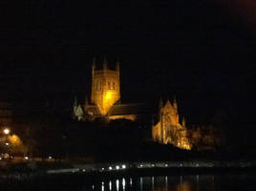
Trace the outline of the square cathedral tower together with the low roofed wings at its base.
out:
M 137 115 L 134 106 L 137 104 L 120 104 L 120 74 L 119 63 L 116 70 L 111 70 L 104 59 L 103 67 L 96 69 L 96 60 L 92 66 L 92 95 L 91 103 L 85 98 L 83 106 L 74 102 L 73 117 L 77 120 L 94 120 L 104 118 L 106 120 L 126 118 L 135 120 Z

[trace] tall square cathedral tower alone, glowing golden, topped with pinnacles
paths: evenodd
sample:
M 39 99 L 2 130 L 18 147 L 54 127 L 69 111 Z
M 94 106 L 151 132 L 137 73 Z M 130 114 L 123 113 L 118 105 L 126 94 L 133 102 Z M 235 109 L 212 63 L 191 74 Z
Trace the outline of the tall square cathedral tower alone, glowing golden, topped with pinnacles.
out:
M 104 59 L 103 68 L 96 70 L 96 60 L 92 66 L 92 102 L 101 115 L 105 116 L 117 100 L 120 99 L 119 63 L 116 70 L 110 70 Z

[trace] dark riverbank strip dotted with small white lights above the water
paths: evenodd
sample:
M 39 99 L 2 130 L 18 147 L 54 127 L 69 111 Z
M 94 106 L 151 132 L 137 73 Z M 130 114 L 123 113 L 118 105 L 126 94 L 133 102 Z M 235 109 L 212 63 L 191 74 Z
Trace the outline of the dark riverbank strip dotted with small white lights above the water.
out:
M 100 177 L 100 176 L 136 176 L 163 174 L 202 174 L 256 172 L 256 161 L 140 161 L 78 163 L 65 162 L 5 162 L 1 163 L 0 179 L 30 180 L 37 177 Z

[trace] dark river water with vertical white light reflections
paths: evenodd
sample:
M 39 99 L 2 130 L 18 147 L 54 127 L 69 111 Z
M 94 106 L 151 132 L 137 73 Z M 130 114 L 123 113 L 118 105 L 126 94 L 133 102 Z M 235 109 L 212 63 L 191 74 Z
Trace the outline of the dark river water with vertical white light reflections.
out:
M 6 184 L 6 183 L 4 183 Z M 100 177 L 100 179 L 32 180 L 23 186 L 12 183 L 1 190 L 38 190 L 38 191 L 255 191 L 255 174 L 200 174 L 200 175 L 168 175 L 168 176 L 119 176 Z

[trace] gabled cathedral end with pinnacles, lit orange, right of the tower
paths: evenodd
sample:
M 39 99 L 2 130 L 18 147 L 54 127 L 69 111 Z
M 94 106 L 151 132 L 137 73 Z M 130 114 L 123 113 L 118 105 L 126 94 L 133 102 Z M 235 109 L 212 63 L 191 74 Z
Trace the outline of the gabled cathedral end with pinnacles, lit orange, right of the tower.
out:
M 152 138 L 162 144 L 173 144 L 181 149 L 191 149 L 187 138 L 184 119 L 180 123 L 176 100 L 169 100 L 163 106 L 160 100 L 160 121 L 152 127 Z

